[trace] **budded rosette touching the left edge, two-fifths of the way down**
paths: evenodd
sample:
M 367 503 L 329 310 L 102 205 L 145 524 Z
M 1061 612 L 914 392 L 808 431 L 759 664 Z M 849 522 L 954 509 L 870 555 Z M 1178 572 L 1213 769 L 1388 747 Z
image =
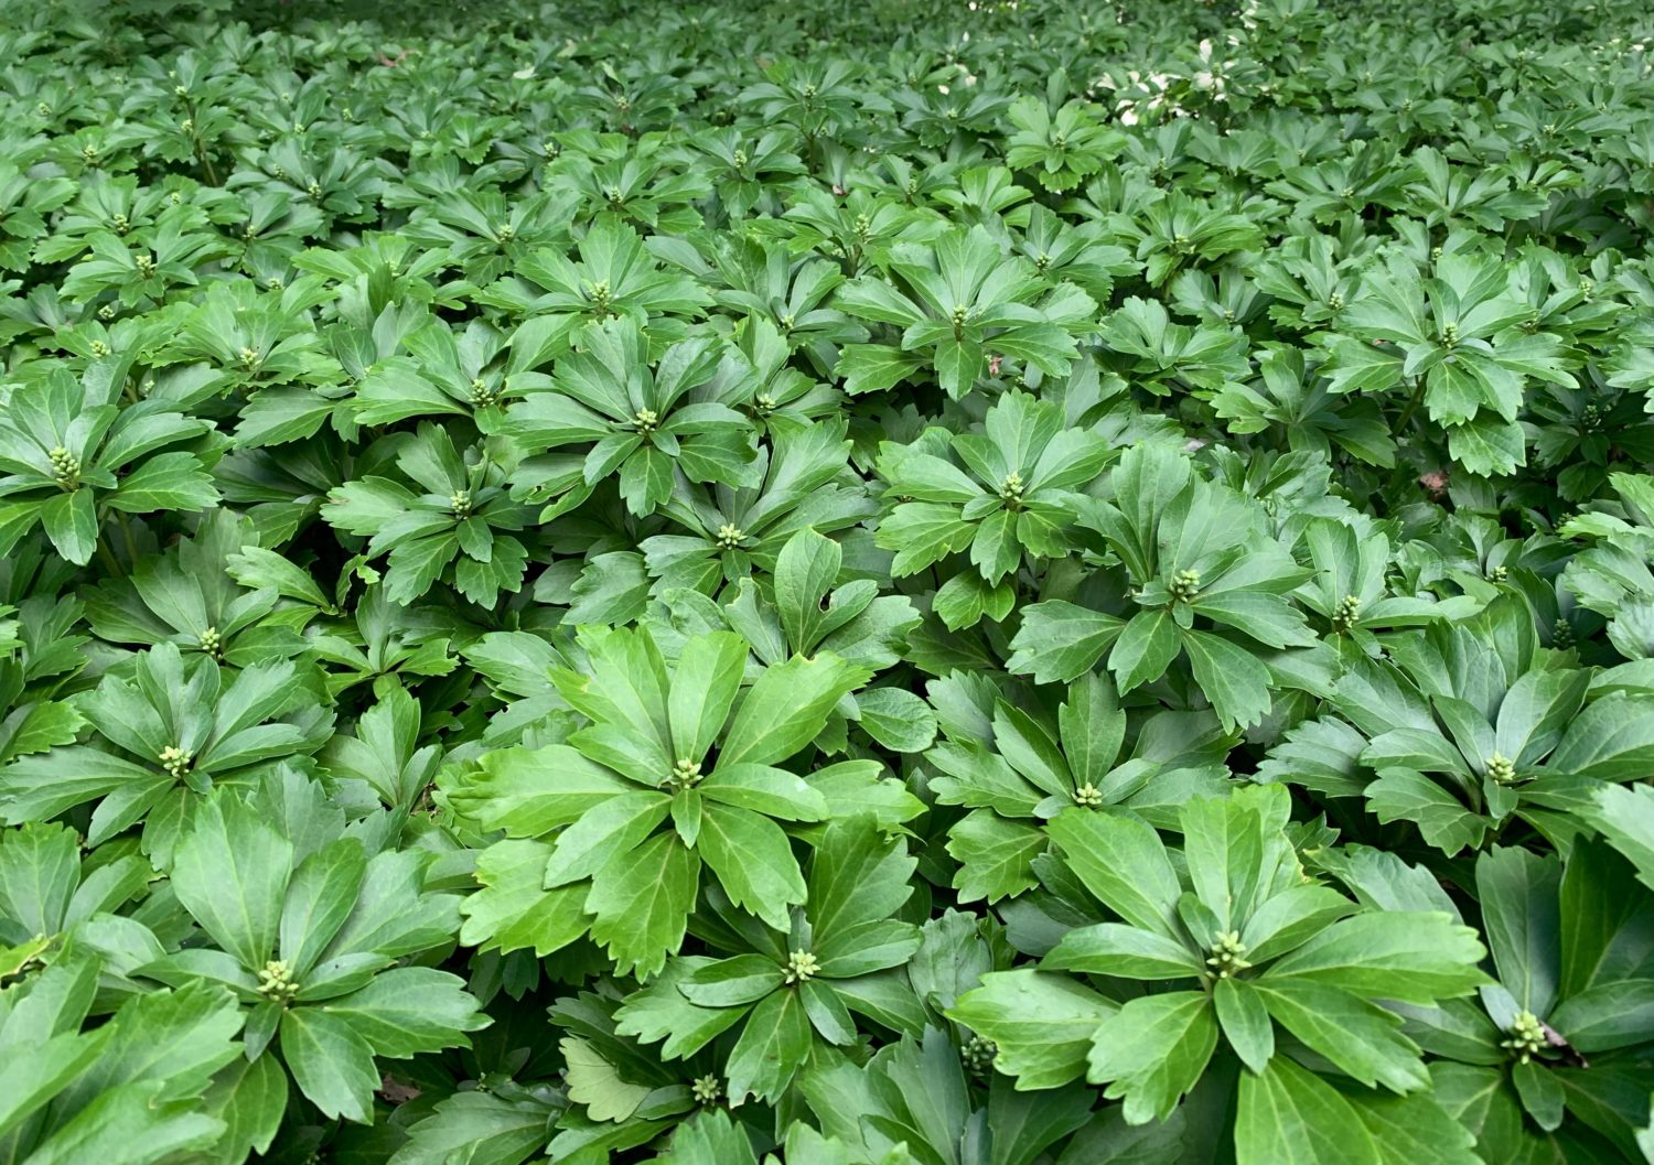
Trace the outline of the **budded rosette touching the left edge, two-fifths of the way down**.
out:
M 98 364 L 76 380 L 60 367 L 0 390 L 0 554 L 40 525 L 60 555 L 86 565 L 111 512 L 119 522 L 218 502 L 212 423 L 165 400 L 122 405 L 126 372 Z

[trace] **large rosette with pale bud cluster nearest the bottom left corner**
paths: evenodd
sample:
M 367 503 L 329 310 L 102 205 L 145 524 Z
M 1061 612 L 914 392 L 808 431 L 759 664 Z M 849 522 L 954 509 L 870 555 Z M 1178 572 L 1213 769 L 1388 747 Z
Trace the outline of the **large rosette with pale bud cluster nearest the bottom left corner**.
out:
M 212 945 L 142 968 L 241 1005 L 248 1068 L 232 1104 L 265 1129 L 260 1148 L 286 1107 L 286 1076 L 326 1117 L 366 1124 L 384 1076 L 375 1058 L 463 1048 L 488 1023 L 465 980 L 400 962 L 458 929 L 458 896 L 423 889 L 427 859 L 341 836 L 342 815 L 314 795 L 289 788 L 283 800 L 275 820 L 263 801 L 202 801 L 170 886 Z

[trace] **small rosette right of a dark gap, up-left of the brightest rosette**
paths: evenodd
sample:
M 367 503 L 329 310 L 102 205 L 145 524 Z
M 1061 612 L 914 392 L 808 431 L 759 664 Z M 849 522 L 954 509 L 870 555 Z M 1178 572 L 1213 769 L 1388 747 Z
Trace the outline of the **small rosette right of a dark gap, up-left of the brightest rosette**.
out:
M 395 466 L 425 492 L 369 474 L 332 491 L 321 507 L 334 529 L 367 539 L 369 557 L 389 554 L 385 597 L 404 606 L 438 578 L 473 603 L 491 606 L 523 585 L 528 550 L 511 532 L 533 509 L 511 501 L 513 451 L 498 440 L 470 445 L 461 458 L 447 428 L 422 423 L 390 441 Z

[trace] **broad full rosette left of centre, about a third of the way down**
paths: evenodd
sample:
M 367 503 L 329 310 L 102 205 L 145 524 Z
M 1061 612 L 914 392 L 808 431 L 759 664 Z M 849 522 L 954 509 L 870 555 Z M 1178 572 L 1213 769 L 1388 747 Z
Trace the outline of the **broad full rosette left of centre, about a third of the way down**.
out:
M 695 483 L 754 484 L 753 421 L 734 408 L 748 402 L 738 377 L 718 380 L 721 352 L 711 337 L 673 344 L 653 365 L 650 337 L 632 319 L 589 327 L 581 342 L 582 350 L 557 360 L 549 390 L 506 410 L 504 431 L 528 454 L 519 496 L 554 499 L 543 522 L 610 476 L 637 516 L 665 504 L 680 473 Z M 590 448 L 541 456 L 567 445 Z

